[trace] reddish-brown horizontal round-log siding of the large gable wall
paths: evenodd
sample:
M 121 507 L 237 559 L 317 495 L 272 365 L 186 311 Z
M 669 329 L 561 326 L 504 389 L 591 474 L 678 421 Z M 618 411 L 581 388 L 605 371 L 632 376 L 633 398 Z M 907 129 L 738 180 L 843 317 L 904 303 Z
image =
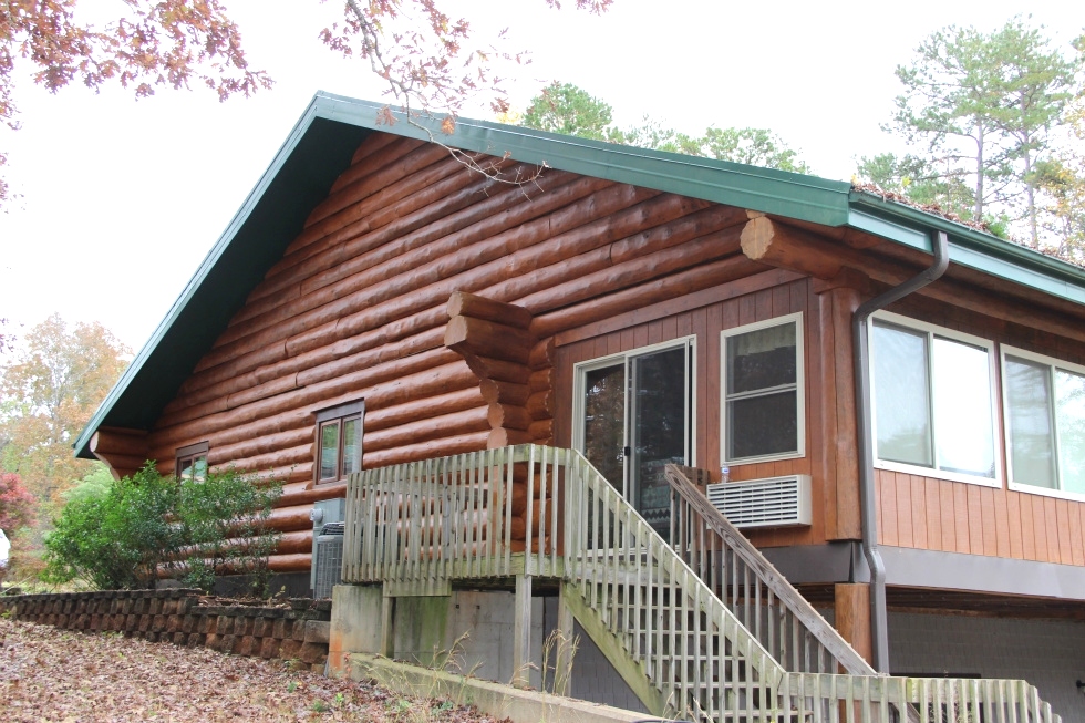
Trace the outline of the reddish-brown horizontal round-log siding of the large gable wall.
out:
M 486 446 L 478 379 L 443 345 L 454 291 L 525 307 L 545 354 L 552 334 L 616 309 L 763 271 L 738 252 L 745 220 L 556 171 L 494 184 L 443 148 L 372 134 L 166 406 L 151 455 L 172 471 L 178 447 L 207 441 L 213 467 L 287 483 L 271 526 L 289 544 L 272 564 L 299 569 L 312 503 L 343 493 L 312 485 L 316 410 L 365 400 L 365 467 Z M 535 386 L 554 376 L 526 393 L 552 404 Z

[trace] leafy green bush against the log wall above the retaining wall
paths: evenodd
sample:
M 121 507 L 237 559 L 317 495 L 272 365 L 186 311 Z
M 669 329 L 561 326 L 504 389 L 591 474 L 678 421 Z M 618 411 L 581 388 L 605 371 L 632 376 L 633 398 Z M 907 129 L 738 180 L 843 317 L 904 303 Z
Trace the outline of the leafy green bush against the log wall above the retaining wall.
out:
M 148 462 L 104 494 L 64 507 L 45 538 L 43 577 L 79 579 L 100 590 L 151 588 L 169 568 L 207 590 L 217 571 L 250 572 L 266 581 L 278 539 L 264 530 L 264 521 L 278 495 L 277 485 L 259 488 L 232 469 L 178 483 Z

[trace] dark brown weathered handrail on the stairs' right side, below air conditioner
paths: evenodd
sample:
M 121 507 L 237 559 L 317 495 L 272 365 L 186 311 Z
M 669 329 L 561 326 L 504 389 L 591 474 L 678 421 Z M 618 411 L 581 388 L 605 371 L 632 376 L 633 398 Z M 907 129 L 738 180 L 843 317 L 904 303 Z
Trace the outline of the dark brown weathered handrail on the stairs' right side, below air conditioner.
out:
M 844 637 L 814 609 L 806 598 L 788 582 L 787 578 L 779 574 L 768 559 L 762 555 L 750 539 L 743 535 L 738 528 L 731 524 L 723 513 L 709 502 L 707 497 L 693 484 L 692 481 L 674 464 L 669 464 L 664 468 L 664 475 L 671 489 L 679 496 L 690 509 L 696 514 L 712 534 L 716 535 L 726 548 L 741 559 L 747 568 L 753 570 L 754 576 L 776 598 L 786 609 L 803 624 L 806 631 L 812 634 L 826 650 L 826 652 L 844 670 L 852 675 L 877 675 L 877 671 L 864 660 L 855 648 L 852 648 Z M 673 507 L 673 505 L 672 505 Z M 676 516 L 673 514 L 672 519 Z M 711 587 L 711 586 L 710 586 Z M 776 651 L 771 651 L 776 652 Z M 787 660 L 777 658 L 778 662 L 786 667 Z M 814 671 L 789 671 L 789 672 L 814 672 Z M 836 671 L 819 671 L 836 672 Z

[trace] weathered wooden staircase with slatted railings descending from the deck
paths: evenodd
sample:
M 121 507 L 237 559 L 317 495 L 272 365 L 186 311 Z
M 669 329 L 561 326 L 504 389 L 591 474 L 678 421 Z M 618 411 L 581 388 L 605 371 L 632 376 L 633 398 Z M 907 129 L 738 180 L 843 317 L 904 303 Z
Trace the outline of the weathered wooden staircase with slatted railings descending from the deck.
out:
M 568 473 L 567 602 L 579 598 L 581 627 L 654 715 L 783 720 L 779 659 L 799 672 L 875 674 L 707 500 L 695 507 L 703 495 L 679 468 L 666 469 L 680 513 L 672 544 L 583 457 Z

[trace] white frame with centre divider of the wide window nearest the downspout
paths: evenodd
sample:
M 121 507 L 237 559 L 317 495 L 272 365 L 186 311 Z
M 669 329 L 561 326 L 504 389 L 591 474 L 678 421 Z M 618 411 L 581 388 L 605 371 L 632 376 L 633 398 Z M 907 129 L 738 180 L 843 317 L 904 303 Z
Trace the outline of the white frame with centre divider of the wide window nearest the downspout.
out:
M 933 338 L 941 337 L 948 339 L 949 341 L 959 342 L 970 347 L 979 347 L 988 352 L 988 395 L 990 397 L 991 404 L 991 453 L 994 457 L 994 476 L 993 477 L 981 477 L 976 475 L 970 475 L 961 472 L 952 472 L 949 469 L 939 469 L 937 466 L 924 467 L 921 465 L 908 464 L 906 462 L 893 462 L 890 459 L 882 459 L 878 454 L 878 393 L 877 384 L 875 383 L 875 354 L 877 350 L 874 344 L 874 327 L 876 321 L 884 321 L 895 327 L 902 327 L 910 331 L 927 334 L 928 349 L 933 349 Z M 900 472 L 903 474 L 917 475 L 922 477 L 931 477 L 934 479 L 946 479 L 948 482 L 962 482 L 971 485 L 980 485 L 983 487 L 1002 488 L 1002 481 L 1004 477 L 1004 465 L 1005 455 L 1002 447 L 1002 435 L 999 428 L 999 407 L 1000 407 L 1000 388 L 1002 386 L 1002 376 L 1000 374 L 1001 369 L 999 369 L 999 351 L 994 341 L 990 339 L 984 339 L 982 337 L 975 337 L 963 331 L 957 331 L 955 329 L 947 329 L 946 327 L 939 327 L 937 324 L 928 323 L 926 321 L 919 321 L 918 319 L 912 319 L 911 317 L 905 317 L 899 313 L 892 313 L 891 311 L 877 311 L 867 319 L 867 339 L 868 353 L 869 353 L 869 374 L 870 374 L 870 437 L 874 447 L 874 467 L 875 469 L 885 469 L 887 472 Z M 933 376 L 933 354 L 928 352 L 927 361 L 927 386 L 928 393 L 930 394 L 931 409 L 929 414 L 933 417 L 934 414 L 934 376 Z M 933 420 L 928 420 L 933 428 Z M 861 433 L 861 431 L 860 431 Z M 933 448 L 931 451 L 932 455 L 937 455 L 938 440 L 937 430 L 931 435 L 931 442 L 933 443 Z M 938 464 L 937 456 L 934 458 L 934 464 Z

